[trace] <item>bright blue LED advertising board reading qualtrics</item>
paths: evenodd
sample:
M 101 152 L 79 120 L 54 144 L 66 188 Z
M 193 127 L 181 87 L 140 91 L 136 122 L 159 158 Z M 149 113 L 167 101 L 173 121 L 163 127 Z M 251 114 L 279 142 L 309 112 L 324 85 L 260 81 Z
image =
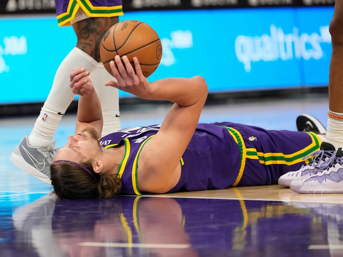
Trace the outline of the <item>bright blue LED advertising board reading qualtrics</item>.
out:
M 160 36 L 163 56 L 149 81 L 201 75 L 210 92 L 227 92 L 327 85 L 332 14 L 333 6 L 275 7 L 135 11 L 120 20 Z M 44 102 L 75 46 L 73 28 L 53 15 L 0 18 L 0 26 L 0 104 Z

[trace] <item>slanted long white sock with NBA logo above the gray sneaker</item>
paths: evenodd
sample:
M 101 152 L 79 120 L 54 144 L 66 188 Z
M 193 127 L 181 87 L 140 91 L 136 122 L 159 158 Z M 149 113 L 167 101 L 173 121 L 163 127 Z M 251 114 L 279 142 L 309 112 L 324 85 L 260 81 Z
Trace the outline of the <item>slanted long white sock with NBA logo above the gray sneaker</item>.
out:
M 39 147 L 51 142 L 63 114 L 75 98 L 69 86 L 72 70 L 82 66 L 92 72 L 97 65 L 96 60 L 76 47 L 64 58 L 56 71 L 49 96 L 28 136 L 30 146 Z

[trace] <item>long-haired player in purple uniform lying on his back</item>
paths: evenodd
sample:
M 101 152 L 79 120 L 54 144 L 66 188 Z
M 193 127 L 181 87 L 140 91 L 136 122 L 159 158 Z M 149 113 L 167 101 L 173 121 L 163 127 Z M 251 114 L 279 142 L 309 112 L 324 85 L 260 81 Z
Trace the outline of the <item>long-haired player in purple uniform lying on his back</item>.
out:
M 75 135 L 57 150 L 51 183 L 61 199 L 110 198 L 277 184 L 278 178 L 304 164 L 319 150 L 312 132 L 265 130 L 221 122 L 198 124 L 207 98 L 204 78 L 166 78 L 149 83 L 134 58 L 117 55 L 113 86 L 148 100 L 169 100 L 161 125 L 122 129 L 98 139 L 101 106 L 83 67 L 70 74 L 80 95 Z

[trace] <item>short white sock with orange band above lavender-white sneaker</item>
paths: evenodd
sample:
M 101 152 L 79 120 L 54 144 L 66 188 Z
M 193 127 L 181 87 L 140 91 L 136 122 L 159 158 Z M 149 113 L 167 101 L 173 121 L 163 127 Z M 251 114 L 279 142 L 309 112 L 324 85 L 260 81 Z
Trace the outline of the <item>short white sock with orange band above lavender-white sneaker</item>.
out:
M 336 149 L 343 147 L 343 113 L 328 111 L 327 132 L 325 142 Z

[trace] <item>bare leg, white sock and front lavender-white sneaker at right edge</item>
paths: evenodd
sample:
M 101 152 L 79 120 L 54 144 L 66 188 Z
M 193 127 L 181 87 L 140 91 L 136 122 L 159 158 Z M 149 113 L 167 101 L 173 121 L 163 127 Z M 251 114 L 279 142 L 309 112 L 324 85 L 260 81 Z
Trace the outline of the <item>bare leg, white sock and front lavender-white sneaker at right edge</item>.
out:
M 343 2 L 336 1 L 330 23 L 332 55 L 329 72 L 329 111 L 325 141 L 336 147 L 330 165 L 310 178 L 294 180 L 290 187 L 299 193 L 343 193 Z

